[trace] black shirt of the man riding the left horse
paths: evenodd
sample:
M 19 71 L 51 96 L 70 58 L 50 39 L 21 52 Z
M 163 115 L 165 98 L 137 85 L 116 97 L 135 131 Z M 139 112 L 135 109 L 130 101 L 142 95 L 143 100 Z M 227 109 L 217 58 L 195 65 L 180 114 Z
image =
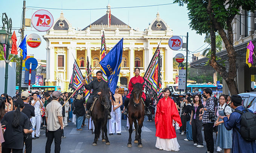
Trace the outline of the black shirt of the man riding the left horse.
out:
M 93 95 L 97 95 L 98 92 L 101 92 L 101 89 L 107 89 L 108 84 L 106 81 L 102 80 L 98 81 L 98 79 L 91 81 L 90 84 L 85 84 L 84 85 L 87 90 L 92 90 L 93 89 Z

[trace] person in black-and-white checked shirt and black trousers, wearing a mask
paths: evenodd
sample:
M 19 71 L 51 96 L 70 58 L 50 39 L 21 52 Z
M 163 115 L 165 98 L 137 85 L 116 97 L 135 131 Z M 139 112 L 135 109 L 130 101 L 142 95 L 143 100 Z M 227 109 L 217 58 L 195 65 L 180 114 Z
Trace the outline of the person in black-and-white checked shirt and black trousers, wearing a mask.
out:
M 204 140 L 206 141 L 207 153 L 213 153 L 214 142 L 213 142 L 213 125 L 214 125 L 214 102 L 212 99 L 212 89 L 205 88 L 203 96 L 206 98 L 205 108 L 201 108 L 200 112 L 204 110 L 203 124 L 204 124 Z

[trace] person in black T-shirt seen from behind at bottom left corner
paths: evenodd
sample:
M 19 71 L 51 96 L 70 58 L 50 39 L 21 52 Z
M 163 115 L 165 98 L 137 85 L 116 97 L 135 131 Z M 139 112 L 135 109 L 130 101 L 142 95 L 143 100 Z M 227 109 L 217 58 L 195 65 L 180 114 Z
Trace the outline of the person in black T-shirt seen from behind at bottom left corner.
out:
M 29 119 L 27 115 L 21 111 L 24 108 L 24 102 L 20 99 L 14 103 L 15 111 L 9 111 L 2 118 L 1 123 L 7 122 L 4 133 L 5 142 L 2 143 L 3 153 L 22 153 L 23 150 L 23 132 L 25 134 L 32 133 L 29 130 Z

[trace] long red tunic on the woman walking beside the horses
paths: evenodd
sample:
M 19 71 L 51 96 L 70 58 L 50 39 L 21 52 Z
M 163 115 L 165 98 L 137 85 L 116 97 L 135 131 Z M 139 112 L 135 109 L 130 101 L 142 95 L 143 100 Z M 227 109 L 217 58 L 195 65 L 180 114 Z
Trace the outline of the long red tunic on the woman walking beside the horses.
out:
M 155 136 L 162 139 L 176 138 L 172 120 L 175 120 L 180 127 L 182 126 L 180 115 L 174 101 L 169 97 L 166 101 L 165 98 L 160 99 L 157 104 L 157 112 L 155 113 Z

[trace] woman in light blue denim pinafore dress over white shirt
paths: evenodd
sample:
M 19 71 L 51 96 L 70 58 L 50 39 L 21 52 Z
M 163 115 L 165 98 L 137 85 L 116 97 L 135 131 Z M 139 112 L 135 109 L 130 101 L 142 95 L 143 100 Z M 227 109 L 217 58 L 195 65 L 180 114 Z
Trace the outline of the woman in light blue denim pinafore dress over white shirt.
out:
M 227 96 L 220 95 L 219 96 L 219 107 L 218 107 L 218 114 L 220 116 L 228 116 L 232 113 L 231 108 L 226 104 Z M 218 135 L 217 135 L 217 152 L 220 152 L 220 148 L 224 148 L 224 153 L 230 153 L 232 148 L 232 131 L 228 131 L 224 124 L 224 121 L 218 117 L 215 122 L 215 126 L 218 126 Z

